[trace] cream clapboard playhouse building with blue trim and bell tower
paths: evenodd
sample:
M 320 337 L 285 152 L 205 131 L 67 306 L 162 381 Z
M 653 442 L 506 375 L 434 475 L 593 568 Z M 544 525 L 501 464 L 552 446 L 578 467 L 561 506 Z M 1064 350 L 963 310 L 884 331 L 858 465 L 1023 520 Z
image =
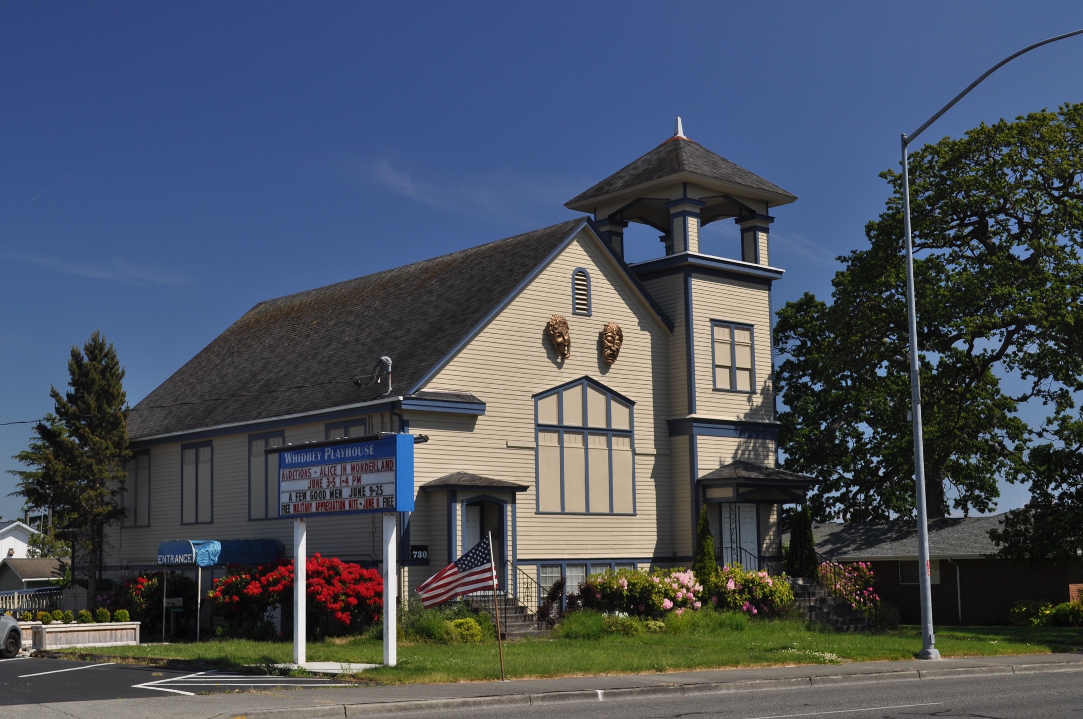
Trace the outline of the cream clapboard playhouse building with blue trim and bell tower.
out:
M 400 515 L 410 596 L 487 532 L 517 593 L 688 565 L 703 507 L 720 560 L 777 563 L 780 505 L 807 487 L 775 468 L 770 211 L 795 199 L 678 125 L 566 202 L 588 217 L 261 302 L 135 406 L 106 563 L 153 566 L 169 539 L 277 538 L 288 554 L 264 449 L 378 432 L 428 437 Z M 700 251 L 722 220 L 741 260 Z M 664 253 L 627 264 L 629 222 Z M 373 372 L 384 356 L 390 376 Z M 381 560 L 379 515 L 308 527 L 310 552 Z

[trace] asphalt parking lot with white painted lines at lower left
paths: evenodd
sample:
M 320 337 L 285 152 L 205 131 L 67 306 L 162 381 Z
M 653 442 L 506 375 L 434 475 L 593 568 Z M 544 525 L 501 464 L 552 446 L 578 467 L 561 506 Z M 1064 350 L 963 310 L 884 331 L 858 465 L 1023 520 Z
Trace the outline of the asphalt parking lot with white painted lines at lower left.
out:
M 0 706 L 194 695 L 289 687 L 336 687 L 331 679 L 183 671 L 127 664 L 16 658 L 0 661 Z M 3 711 L 0 711 L 0 717 Z

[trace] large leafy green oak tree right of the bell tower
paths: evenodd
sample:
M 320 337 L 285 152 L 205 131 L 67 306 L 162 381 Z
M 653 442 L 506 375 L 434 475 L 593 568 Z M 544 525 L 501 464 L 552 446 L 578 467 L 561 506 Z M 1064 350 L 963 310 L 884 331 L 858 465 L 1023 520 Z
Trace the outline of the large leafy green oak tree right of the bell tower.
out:
M 1083 479 L 1060 472 L 1083 450 L 1081 122 L 1065 105 L 911 155 L 930 517 L 993 509 L 997 478 L 1035 498 Z M 869 246 L 839 258 L 831 302 L 779 311 L 785 463 L 821 480 L 821 520 L 914 510 L 902 177 L 882 177 L 892 194 Z

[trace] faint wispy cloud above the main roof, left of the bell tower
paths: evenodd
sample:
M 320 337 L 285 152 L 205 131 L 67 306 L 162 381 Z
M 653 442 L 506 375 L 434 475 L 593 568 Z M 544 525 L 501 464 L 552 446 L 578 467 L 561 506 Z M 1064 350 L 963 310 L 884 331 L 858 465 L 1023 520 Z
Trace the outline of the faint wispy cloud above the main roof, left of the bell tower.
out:
M 512 170 L 459 178 L 416 177 L 384 159 L 361 168 L 369 182 L 438 210 L 499 219 L 522 218 L 535 209 L 560 207 L 587 186 L 584 180 L 526 175 Z

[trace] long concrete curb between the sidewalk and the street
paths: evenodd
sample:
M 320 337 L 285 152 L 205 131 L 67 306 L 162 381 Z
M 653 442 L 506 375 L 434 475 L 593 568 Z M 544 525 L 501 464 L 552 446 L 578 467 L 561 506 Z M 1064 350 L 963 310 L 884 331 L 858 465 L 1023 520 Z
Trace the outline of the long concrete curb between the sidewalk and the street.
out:
M 960 679 L 966 677 L 988 677 L 1016 674 L 1030 675 L 1060 671 L 1083 671 L 1083 662 L 1019 665 L 1009 664 L 984 667 L 953 667 L 950 669 L 899 669 L 893 671 L 824 675 L 819 677 L 746 679 L 741 681 L 660 684 L 655 687 L 630 687 L 623 689 L 580 689 L 563 692 L 537 692 L 533 694 L 521 693 L 497 694 L 490 696 L 464 696 L 445 700 L 406 700 L 397 702 L 373 702 L 368 704 L 284 707 L 280 709 L 258 709 L 256 711 L 223 716 L 229 719 L 327 719 L 330 717 L 334 717 L 335 719 L 350 719 L 351 717 L 365 717 L 373 714 L 399 714 L 401 711 L 438 711 L 495 706 L 542 706 L 548 704 L 570 704 L 577 702 L 609 702 L 630 698 L 664 698 L 676 696 L 695 696 L 700 694 L 757 692 L 777 689 L 797 689 L 803 687 L 837 687 L 841 684 L 874 684 L 893 681 L 928 681 L 938 679 Z

